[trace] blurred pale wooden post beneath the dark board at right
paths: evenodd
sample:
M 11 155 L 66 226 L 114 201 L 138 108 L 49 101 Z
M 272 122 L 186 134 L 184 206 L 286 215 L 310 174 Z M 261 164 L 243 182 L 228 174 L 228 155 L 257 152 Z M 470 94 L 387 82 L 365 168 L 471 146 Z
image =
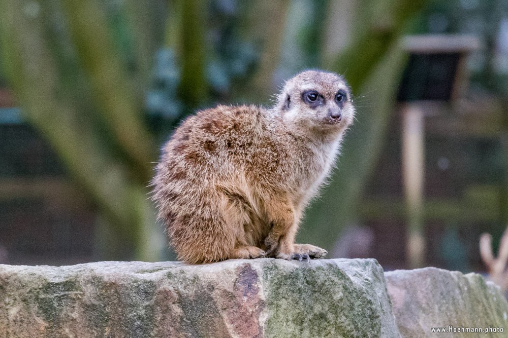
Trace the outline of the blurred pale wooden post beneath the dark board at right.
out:
M 402 108 L 402 176 L 407 208 L 406 255 L 409 269 L 425 263 L 423 186 L 425 178 L 424 112 L 417 103 Z

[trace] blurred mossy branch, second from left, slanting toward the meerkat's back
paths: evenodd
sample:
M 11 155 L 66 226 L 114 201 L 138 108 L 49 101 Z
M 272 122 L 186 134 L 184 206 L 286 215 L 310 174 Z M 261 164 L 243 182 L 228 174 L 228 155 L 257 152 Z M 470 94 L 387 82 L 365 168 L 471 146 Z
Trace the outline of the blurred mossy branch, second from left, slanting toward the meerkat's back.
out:
M 97 0 L 67 0 L 63 9 L 77 55 L 101 110 L 99 116 L 121 151 L 138 168 L 140 180 L 147 182 L 156 147 L 141 118 L 142 97 L 136 96 L 134 84 L 114 52 L 105 15 Z

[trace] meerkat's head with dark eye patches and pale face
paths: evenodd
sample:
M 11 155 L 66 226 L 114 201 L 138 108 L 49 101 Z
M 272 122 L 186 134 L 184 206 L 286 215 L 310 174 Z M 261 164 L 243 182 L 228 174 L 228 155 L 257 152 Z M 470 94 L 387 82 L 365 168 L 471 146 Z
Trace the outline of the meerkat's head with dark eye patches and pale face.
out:
M 277 110 L 289 126 L 322 131 L 343 130 L 355 115 L 344 79 L 321 70 L 306 70 L 288 80 L 278 95 Z

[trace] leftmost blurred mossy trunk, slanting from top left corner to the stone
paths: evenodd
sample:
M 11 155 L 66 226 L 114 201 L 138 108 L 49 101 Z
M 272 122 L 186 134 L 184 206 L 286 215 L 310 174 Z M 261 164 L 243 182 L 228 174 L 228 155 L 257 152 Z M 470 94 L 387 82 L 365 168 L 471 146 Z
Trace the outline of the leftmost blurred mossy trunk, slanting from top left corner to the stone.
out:
M 107 152 L 90 119 L 63 95 L 64 84 L 45 44 L 41 18 L 23 3 L 0 2 L 0 50 L 9 83 L 26 120 L 51 143 L 66 168 L 106 215 L 119 241 L 136 248 L 138 259 L 155 260 L 145 218 L 150 205 L 144 186 Z M 153 210 L 151 210 L 153 213 Z M 155 247 L 155 246 L 154 246 Z

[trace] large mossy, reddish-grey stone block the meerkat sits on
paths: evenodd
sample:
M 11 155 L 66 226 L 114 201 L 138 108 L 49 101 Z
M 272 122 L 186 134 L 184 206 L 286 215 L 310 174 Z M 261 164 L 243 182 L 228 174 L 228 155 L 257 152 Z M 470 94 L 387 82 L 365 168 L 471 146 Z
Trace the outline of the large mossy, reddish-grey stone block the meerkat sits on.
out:
M 374 259 L 0 265 L 0 337 L 398 337 Z

